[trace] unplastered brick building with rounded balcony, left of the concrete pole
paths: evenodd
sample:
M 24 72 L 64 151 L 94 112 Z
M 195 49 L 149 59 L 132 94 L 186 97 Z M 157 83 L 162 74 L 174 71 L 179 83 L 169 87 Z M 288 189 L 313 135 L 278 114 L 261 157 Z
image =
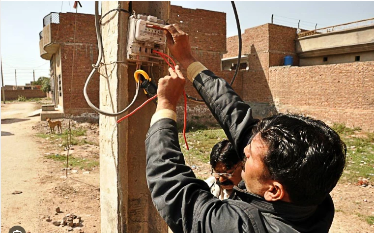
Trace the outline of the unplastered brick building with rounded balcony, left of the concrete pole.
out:
M 65 116 L 93 113 L 83 87 L 98 57 L 94 15 L 50 13 L 39 33 L 40 57 L 50 60 L 52 101 Z M 87 94 L 99 105 L 99 75 L 95 73 Z

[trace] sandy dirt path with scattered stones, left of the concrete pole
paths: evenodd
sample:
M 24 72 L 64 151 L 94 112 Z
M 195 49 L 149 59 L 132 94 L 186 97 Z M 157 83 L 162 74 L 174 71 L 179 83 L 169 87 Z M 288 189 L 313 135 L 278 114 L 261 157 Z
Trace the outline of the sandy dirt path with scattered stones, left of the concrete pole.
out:
M 45 159 L 45 149 L 32 130 L 40 117 L 28 113 L 34 103 L 1 105 L 1 233 L 15 225 L 30 233 L 65 233 L 68 226 L 56 227 L 66 214 L 82 217 L 73 231 L 100 232 L 99 175 L 64 175 L 61 164 Z M 93 186 L 92 186 L 93 185 Z M 14 191 L 22 191 L 13 195 Z M 56 214 L 59 206 L 62 213 Z M 51 222 L 46 219 L 50 217 Z

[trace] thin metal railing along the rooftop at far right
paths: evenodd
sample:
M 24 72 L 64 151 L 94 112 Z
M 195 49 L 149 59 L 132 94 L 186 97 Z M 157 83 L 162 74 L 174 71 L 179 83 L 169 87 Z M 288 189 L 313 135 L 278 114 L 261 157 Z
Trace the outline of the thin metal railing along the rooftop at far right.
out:
M 322 29 L 315 29 L 315 30 L 300 32 L 297 34 L 297 37 L 301 38 L 301 37 L 305 37 L 309 35 L 327 33 L 327 32 L 332 32 L 332 31 L 341 31 L 345 29 L 354 29 L 354 28 L 370 26 L 370 25 L 374 25 L 374 18 L 355 21 L 355 22 L 346 23 L 346 24 L 335 25 L 335 26 L 322 28 Z

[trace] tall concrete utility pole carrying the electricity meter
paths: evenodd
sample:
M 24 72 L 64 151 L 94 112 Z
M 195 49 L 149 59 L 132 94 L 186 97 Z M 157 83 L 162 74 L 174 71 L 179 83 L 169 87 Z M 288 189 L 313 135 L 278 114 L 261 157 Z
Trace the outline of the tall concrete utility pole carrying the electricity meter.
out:
M 129 1 L 102 1 L 101 15 L 115 9 L 129 9 Z M 132 1 L 132 10 L 167 20 L 169 1 Z M 103 59 L 108 64 L 100 68 L 100 109 L 119 112 L 132 101 L 135 94 L 135 65 L 126 61 L 126 42 L 129 14 L 113 11 L 102 19 Z M 153 67 L 154 76 L 167 74 L 167 66 Z M 148 72 L 146 70 L 146 72 Z M 129 112 L 140 106 L 146 97 L 139 91 L 137 101 Z M 145 177 L 145 135 L 156 109 L 149 103 L 133 117 L 122 121 L 113 136 L 116 117 L 100 115 L 100 206 L 101 232 L 121 233 L 167 233 L 164 220 L 155 209 Z M 128 113 L 129 113 L 128 112 Z M 122 115 L 123 116 L 123 115 Z M 121 116 L 121 117 L 122 117 Z M 119 118 L 119 117 L 118 117 Z M 112 147 L 114 158 L 112 156 Z M 118 164 L 118 177 L 114 160 Z M 121 192 L 117 190 L 117 179 Z M 120 211 L 121 210 L 121 211 Z

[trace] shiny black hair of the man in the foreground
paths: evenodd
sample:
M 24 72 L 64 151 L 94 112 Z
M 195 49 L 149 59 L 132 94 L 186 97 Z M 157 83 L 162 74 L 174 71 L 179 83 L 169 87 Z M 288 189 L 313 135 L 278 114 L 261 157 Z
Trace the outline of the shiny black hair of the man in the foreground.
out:
M 320 120 L 279 114 L 263 118 L 256 133 L 268 147 L 264 178 L 280 182 L 294 204 L 320 204 L 343 174 L 345 143 Z

